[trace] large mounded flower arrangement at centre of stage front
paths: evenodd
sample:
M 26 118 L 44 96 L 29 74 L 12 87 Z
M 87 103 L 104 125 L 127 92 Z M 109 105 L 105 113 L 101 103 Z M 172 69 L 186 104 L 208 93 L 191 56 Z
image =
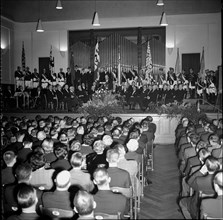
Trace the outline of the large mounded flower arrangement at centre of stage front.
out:
M 110 116 L 112 113 L 122 113 L 123 110 L 116 95 L 110 91 L 100 89 L 95 91 L 92 100 L 79 107 L 78 112 L 93 117 L 101 117 Z

